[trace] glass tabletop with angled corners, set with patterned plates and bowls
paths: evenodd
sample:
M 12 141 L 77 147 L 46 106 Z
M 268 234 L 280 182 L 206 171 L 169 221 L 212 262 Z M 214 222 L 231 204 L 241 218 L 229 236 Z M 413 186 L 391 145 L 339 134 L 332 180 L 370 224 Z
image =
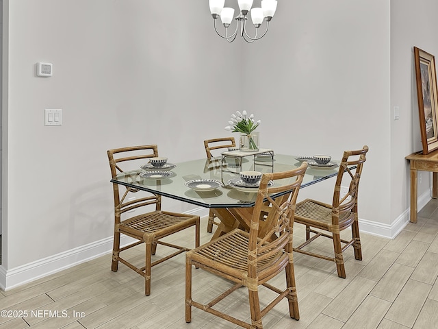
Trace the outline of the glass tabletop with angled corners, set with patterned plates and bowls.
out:
M 135 171 L 119 173 L 111 182 L 206 208 L 252 207 L 255 204 L 257 188 L 248 188 L 247 191 L 246 188 L 237 186 L 237 189 L 232 186 L 236 180 L 240 179 L 240 171 L 255 170 L 262 173 L 287 171 L 300 167 L 301 163 L 296 160 L 296 157 L 275 154 L 272 161 L 272 156 L 262 154 L 240 159 L 220 157 L 211 158 L 211 160 L 190 160 L 176 163 L 175 167 L 163 171 L 152 172 L 139 168 Z M 332 162 L 339 163 L 334 160 Z M 301 188 L 336 176 L 338 169 L 338 165 L 333 167 L 309 165 Z M 185 185 L 185 182 L 192 180 L 216 180 L 222 182 L 223 185 L 211 191 L 197 191 Z M 284 183 L 287 183 L 287 180 Z M 282 184 L 282 181 L 276 181 L 275 184 Z

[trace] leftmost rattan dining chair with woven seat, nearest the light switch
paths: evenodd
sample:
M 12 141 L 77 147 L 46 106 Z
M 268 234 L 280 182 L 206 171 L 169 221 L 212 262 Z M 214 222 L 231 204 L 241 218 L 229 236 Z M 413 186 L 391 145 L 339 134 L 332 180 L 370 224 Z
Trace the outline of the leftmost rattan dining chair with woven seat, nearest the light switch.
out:
M 135 179 L 140 173 L 140 165 L 148 162 L 149 158 L 158 156 L 158 150 L 157 145 L 144 145 L 110 149 L 107 151 L 107 154 L 108 160 L 110 160 L 112 178 L 118 173 L 129 170 L 133 173 L 133 178 Z M 125 170 L 123 170 L 122 167 Z M 122 186 L 115 183 L 113 183 L 113 192 L 114 246 L 111 269 L 112 271 L 117 271 L 118 262 L 121 262 L 139 273 L 141 276 L 144 276 L 144 293 L 150 295 L 151 267 L 189 250 L 187 247 L 166 243 L 161 241 L 161 239 L 170 234 L 195 226 L 194 246 L 198 247 L 199 217 L 177 212 L 162 211 L 161 195 L 146 193 L 144 191 L 139 191 L 136 188 Z M 154 210 L 137 215 L 138 211 L 145 211 L 150 207 L 153 207 Z M 133 216 L 130 216 L 131 214 L 133 214 Z M 130 236 L 131 238 L 136 239 L 136 241 L 125 247 L 120 247 L 120 234 Z M 136 245 L 140 245 L 141 243 L 144 243 L 146 246 L 144 267 L 136 267 L 126 258 L 120 256 L 121 252 L 124 252 L 131 247 L 135 247 Z M 172 254 L 164 252 L 162 256 L 157 256 L 159 259 L 152 262 L 152 255 L 155 255 L 157 244 L 175 248 L 177 251 Z

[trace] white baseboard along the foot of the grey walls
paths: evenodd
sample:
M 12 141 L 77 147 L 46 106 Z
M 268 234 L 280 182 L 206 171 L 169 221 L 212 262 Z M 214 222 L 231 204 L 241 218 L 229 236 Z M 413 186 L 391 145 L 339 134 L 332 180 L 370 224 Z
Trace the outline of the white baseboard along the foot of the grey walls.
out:
M 421 210 L 430 199 L 430 191 L 421 195 L 418 199 L 418 210 Z M 205 217 L 208 215 L 208 209 L 199 207 L 190 210 L 190 212 L 187 213 Z M 366 219 L 359 219 L 361 232 L 390 239 L 393 239 L 398 232 L 407 225 L 407 223 L 409 223 L 409 209 L 405 210 L 396 221 L 391 223 L 391 225 L 368 221 Z M 68 269 L 69 267 L 108 254 L 112 251 L 112 239 L 113 237 L 110 236 L 100 241 L 42 258 L 13 269 L 6 270 L 3 265 L 0 265 L 0 288 L 4 291 L 13 289 L 27 282 L 43 278 L 44 276 L 49 276 L 50 274 L 62 271 L 63 269 Z M 131 241 L 133 241 L 133 239 L 128 236 L 122 236 L 120 239 L 121 245 L 127 245 Z

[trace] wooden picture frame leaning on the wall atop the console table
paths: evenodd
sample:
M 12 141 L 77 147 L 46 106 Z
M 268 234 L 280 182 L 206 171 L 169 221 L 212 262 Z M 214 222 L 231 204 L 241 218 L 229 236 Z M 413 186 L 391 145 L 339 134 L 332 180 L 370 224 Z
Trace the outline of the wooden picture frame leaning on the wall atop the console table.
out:
M 438 149 L 438 102 L 435 56 L 413 47 L 423 154 Z

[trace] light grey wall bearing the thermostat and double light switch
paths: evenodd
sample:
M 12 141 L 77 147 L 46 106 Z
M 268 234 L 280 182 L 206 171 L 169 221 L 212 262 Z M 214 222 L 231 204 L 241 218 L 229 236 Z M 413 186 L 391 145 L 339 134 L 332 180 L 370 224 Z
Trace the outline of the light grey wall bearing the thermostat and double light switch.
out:
M 239 47 L 216 39 L 208 3 L 5 3 L 9 243 L 3 259 L 13 269 L 112 236 L 106 150 L 157 143 L 175 162 L 205 156 L 203 139 L 227 134 L 241 74 L 237 61 L 218 56 L 238 58 Z M 39 61 L 53 63 L 53 77 L 36 77 Z M 44 108 L 62 108 L 63 125 L 44 127 Z

